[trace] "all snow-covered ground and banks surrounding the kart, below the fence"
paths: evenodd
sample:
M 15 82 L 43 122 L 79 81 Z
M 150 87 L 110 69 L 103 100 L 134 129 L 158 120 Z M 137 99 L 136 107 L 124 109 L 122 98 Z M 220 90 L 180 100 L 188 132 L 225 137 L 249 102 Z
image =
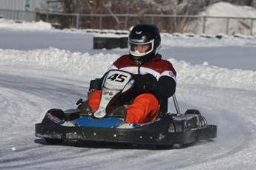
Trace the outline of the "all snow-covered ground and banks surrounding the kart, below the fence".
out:
M 50 146 L 35 137 L 34 124 L 48 109 L 75 108 L 90 80 L 127 49 L 93 50 L 98 33 L 85 30 L 12 23 L 0 19 L 0 169 L 255 169 L 255 38 L 162 34 L 160 53 L 177 69 L 181 112 L 199 109 L 218 126 L 217 138 L 166 150 L 81 141 Z

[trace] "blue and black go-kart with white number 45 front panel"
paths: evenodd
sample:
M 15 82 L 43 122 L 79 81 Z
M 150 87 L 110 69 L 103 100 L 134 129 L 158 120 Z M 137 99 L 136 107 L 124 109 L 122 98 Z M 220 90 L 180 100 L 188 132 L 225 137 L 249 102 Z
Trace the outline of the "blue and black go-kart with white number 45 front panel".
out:
M 90 93 L 97 80 L 91 81 Z M 36 137 L 43 137 L 50 144 L 64 140 L 86 140 L 111 143 L 151 144 L 173 146 L 194 143 L 217 136 L 217 126 L 209 125 L 196 109 L 180 113 L 175 95 L 177 113 L 167 112 L 168 99 L 160 100 L 160 112 L 150 123 L 133 124 L 124 121 L 123 113 L 116 113 L 114 101 L 133 87 L 134 79 L 128 72 L 111 70 L 102 83 L 99 109 L 92 114 L 81 114 L 82 99 L 76 109 L 50 109 L 42 123 L 36 124 Z

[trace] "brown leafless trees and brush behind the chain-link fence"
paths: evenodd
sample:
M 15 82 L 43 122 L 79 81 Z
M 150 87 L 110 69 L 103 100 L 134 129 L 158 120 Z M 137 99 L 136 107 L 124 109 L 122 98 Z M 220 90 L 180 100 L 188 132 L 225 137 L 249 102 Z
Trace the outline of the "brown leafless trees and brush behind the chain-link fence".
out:
M 102 17 L 105 29 L 127 29 L 135 24 L 157 24 L 160 30 L 169 33 L 186 32 L 185 25 L 194 18 L 183 15 L 197 15 L 205 7 L 226 1 L 237 5 L 256 6 L 256 0 L 62 0 L 65 13 L 110 14 Z M 137 14 L 136 16 L 117 16 L 117 14 Z M 176 15 L 177 18 L 149 17 L 146 14 Z M 99 28 L 99 17 L 80 17 L 81 27 Z M 66 19 L 65 23 L 73 24 L 74 19 Z M 127 24 L 128 23 L 128 24 Z M 126 25 L 125 25 L 126 24 Z

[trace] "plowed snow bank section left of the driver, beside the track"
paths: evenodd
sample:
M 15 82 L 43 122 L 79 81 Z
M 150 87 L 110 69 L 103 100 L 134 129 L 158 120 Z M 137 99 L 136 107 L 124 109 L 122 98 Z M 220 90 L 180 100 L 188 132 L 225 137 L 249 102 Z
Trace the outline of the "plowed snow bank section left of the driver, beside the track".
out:
M 1 50 L 0 65 L 16 67 L 29 67 L 30 69 L 61 70 L 76 75 L 103 75 L 119 55 L 96 55 L 70 52 L 50 47 L 45 50 Z

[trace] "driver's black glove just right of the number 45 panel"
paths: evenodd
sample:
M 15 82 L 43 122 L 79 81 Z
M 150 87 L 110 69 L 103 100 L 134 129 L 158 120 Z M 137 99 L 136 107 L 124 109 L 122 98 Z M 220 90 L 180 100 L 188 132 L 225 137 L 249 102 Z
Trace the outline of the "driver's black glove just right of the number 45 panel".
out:
M 154 89 L 157 84 L 157 78 L 151 74 L 145 75 L 133 75 L 134 77 L 134 89 L 137 92 L 148 92 Z

